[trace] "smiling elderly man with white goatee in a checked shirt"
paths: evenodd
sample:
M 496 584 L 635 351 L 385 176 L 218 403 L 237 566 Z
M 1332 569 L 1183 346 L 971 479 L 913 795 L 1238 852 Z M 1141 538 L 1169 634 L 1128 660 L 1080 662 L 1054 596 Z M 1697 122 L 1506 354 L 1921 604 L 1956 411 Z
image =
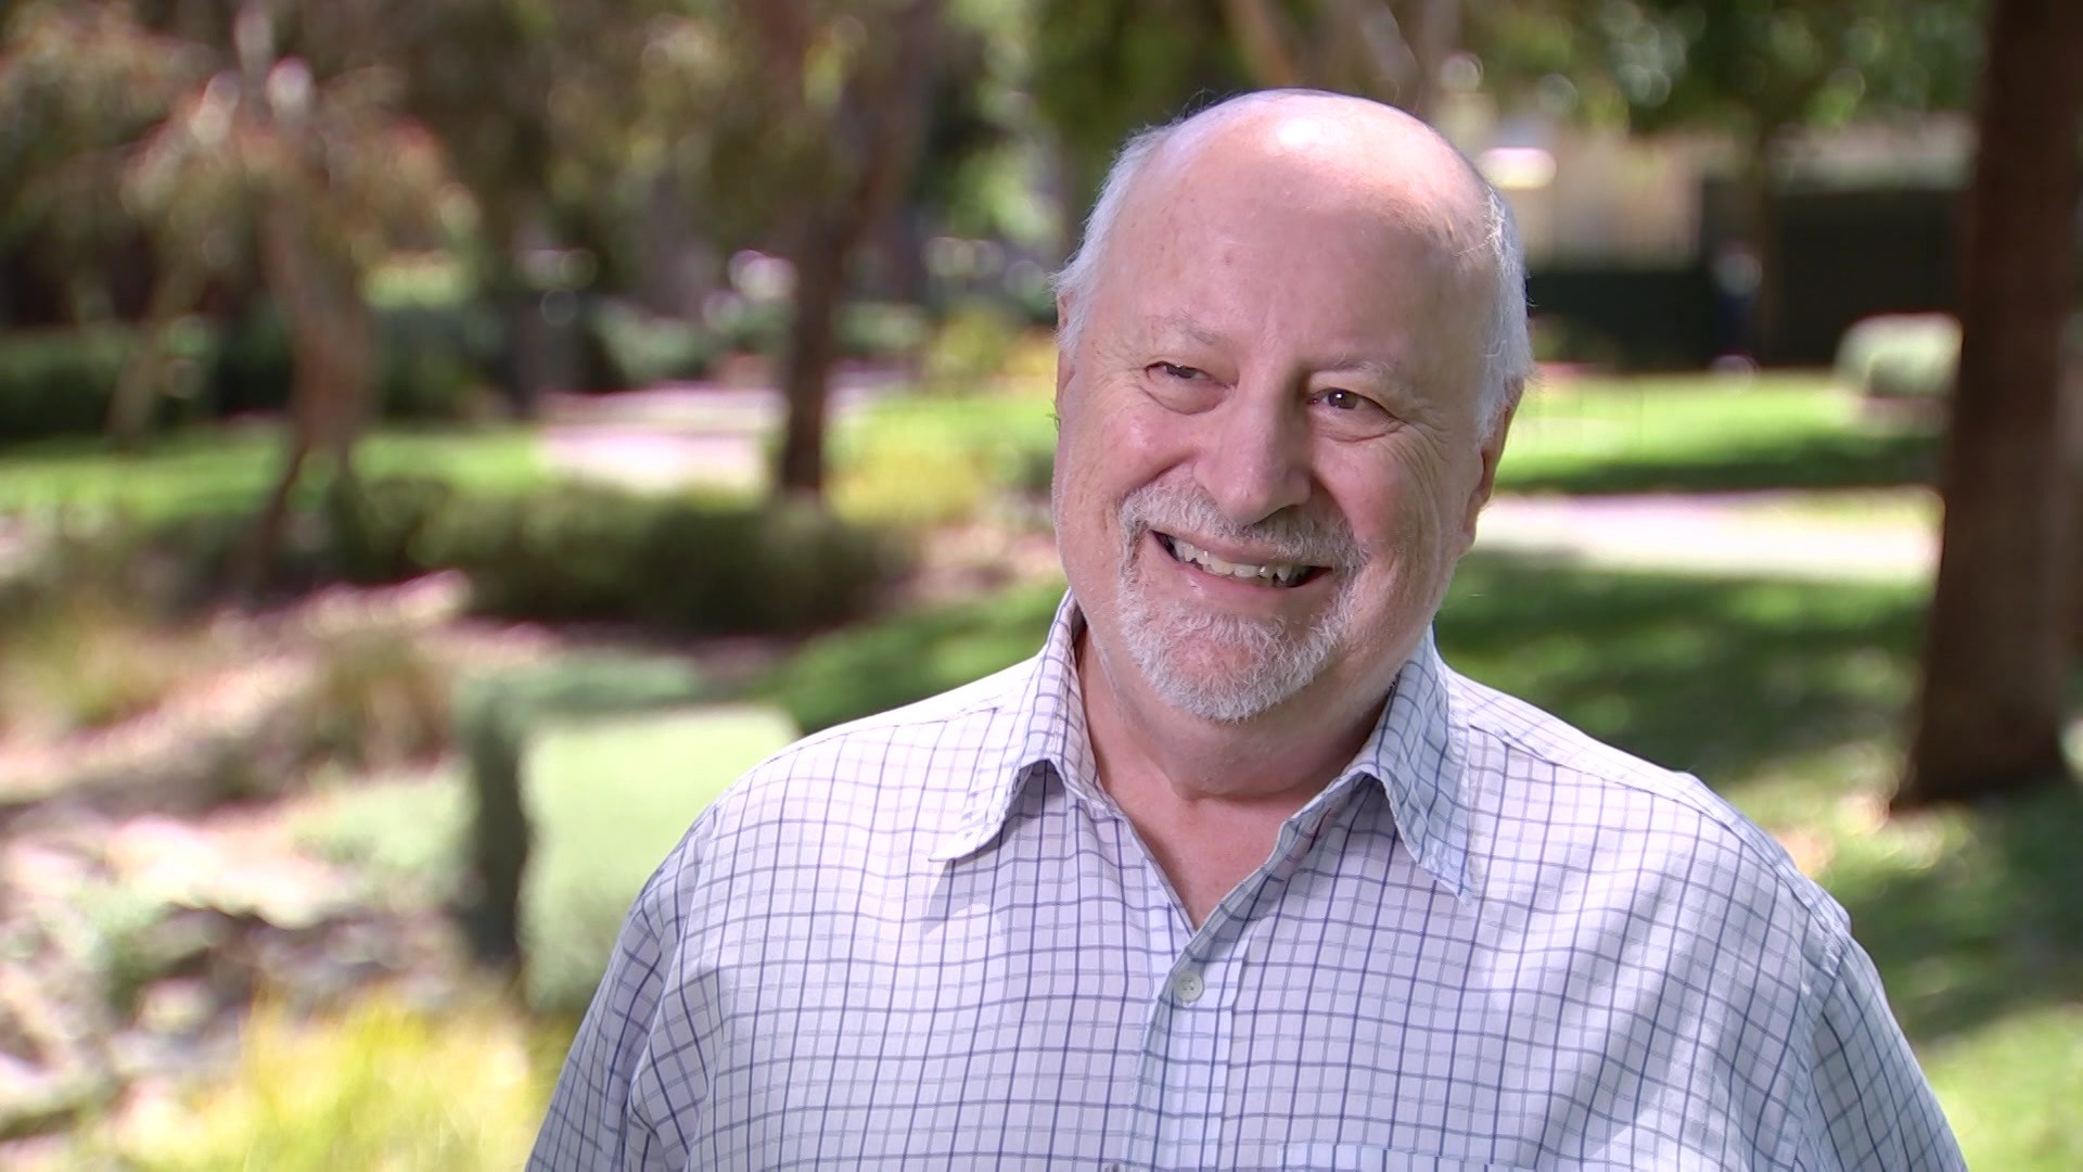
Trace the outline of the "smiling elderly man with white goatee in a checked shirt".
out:
M 1429 626 L 1527 377 L 1373 102 L 1131 142 L 1060 282 L 1042 653 L 752 770 L 537 1168 L 1958 1168 L 1843 911 Z

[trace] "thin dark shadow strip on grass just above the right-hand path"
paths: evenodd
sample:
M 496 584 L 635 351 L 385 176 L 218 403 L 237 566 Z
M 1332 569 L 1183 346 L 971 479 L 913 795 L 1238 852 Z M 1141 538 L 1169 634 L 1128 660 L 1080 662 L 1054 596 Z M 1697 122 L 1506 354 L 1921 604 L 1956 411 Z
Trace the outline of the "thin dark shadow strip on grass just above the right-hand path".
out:
M 1756 492 L 1773 488 L 1898 488 L 1931 484 L 1935 434 L 1841 434 L 1758 440 L 1712 453 L 1673 450 L 1583 461 L 1541 459 L 1498 469 L 1506 492 Z

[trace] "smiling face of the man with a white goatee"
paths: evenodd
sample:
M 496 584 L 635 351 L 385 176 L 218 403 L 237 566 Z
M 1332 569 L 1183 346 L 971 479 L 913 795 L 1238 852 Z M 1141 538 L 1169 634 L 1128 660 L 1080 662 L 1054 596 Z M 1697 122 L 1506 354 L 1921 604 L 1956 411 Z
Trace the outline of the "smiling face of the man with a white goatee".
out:
M 1208 152 L 1144 186 L 1058 365 L 1087 646 L 1116 690 L 1212 722 L 1379 703 L 1502 446 L 1464 229 L 1308 158 Z

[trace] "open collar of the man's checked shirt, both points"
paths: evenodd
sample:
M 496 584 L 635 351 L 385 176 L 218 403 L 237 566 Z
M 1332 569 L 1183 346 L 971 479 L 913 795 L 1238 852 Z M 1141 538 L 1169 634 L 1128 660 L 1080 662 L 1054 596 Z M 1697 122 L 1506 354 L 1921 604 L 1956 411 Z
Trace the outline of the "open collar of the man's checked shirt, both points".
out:
M 931 861 L 954 861 L 987 847 L 1042 770 L 1054 770 L 1079 795 L 1098 784 L 1077 680 L 1083 628 L 1077 601 L 1064 594 L 1042 653 L 1029 661 L 1004 753 L 979 761 L 952 826 L 931 840 Z M 1427 630 L 1398 674 L 1375 730 L 1327 792 L 1360 778 L 1377 782 L 1412 857 L 1460 897 L 1469 888 L 1464 772 L 1466 734 L 1452 709 L 1446 663 Z

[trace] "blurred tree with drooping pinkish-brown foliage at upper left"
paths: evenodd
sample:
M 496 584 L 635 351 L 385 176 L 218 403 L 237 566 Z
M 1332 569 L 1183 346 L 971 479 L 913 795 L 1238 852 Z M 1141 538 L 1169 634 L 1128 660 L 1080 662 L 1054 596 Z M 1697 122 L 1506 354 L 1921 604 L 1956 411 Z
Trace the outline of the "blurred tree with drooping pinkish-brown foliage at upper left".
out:
M 435 236 L 431 209 L 446 171 L 433 140 L 398 115 L 392 71 L 315 73 L 281 52 L 273 4 L 192 6 L 169 25 L 179 33 L 137 25 L 121 8 L 44 4 L 15 33 L 0 96 L 31 102 L 50 92 L 27 71 L 62 88 L 152 56 L 179 63 L 173 75 L 158 67 L 154 106 L 119 104 L 121 117 L 104 119 L 81 113 L 71 133 L 23 150 L 40 154 L 48 175 L 108 181 L 154 240 L 150 311 L 110 409 L 121 446 L 142 440 L 165 336 L 210 279 L 256 265 L 281 307 L 290 419 L 283 469 L 240 573 L 250 584 L 279 540 L 306 459 L 325 453 L 335 482 L 350 478 L 375 350 L 362 282 L 396 244 Z

